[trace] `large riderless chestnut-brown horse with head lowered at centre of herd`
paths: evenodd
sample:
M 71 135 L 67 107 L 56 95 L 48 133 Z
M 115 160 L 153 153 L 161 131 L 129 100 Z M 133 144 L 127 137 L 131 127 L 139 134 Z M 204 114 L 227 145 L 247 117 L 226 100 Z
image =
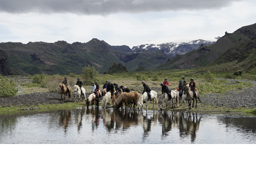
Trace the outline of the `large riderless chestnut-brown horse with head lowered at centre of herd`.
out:
M 114 102 L 114 109 L 119 109 L 120 107 L 123 108 L 123 103 L 125 103 L 125 108 L 127 109 L 129 107 L 129 102 L 134 103 L 134 109 L 135 106 L 137 106 L 137 103 L 139 101 L 139 97 L 141 95 L 138 92 L 131 92 L 131 93 L 122 93 Z

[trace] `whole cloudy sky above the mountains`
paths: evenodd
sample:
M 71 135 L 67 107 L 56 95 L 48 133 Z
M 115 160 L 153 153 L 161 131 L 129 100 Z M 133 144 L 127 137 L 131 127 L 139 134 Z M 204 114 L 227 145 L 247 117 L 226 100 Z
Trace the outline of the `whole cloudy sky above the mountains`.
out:
M 0 42 L 215 41 L 256 23 L 255 10 L 255 0 L 0 0 Z

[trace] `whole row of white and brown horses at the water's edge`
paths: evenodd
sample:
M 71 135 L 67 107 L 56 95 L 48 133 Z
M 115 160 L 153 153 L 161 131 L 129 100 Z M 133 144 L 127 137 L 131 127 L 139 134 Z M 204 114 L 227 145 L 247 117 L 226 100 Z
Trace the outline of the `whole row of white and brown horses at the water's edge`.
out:
M 59 84 L 59 89 L 61 90 L 61 99 L 62 95 L 65 95 L 65 100 L 67 97 L 67 94 L 69 94 L 69 98 L 71 99 L 71 87 L 69 87 L 69 91 L 67 91 L 67 88 L 63 84 Z M 97 99 L 96 95 L 90 94 L 88 98 L 86 98 L 86 91 L 82 87 L 75 85 L 75 101 L 82 102 L 86 101 L 87 108 L 89 108 L 90 105 L 92 106 L 99 106 L 99 99 Z M 201 102 L 199 91 L 196 90 L 197 99 Z M 147 103 L 149 101 L 149 97 L 147 93 L 139 94 L 136 91 L 133 91 L 131 93 L 114 93 L 113 97 L 111 97 L 111 93 L 106 91 L 106 89 L 102 90 L 101 93 L 102 96 L 102 108 L 110 108 L 111 103 L 113 104 L 114 109 L 123 109 L 123 105 L 125 104 L 125 109 L 131 109 L 132 107 L 136 109 L 138 107 L 138 110 L 143 109 L 144 103 L 146 103 L 146 110 L 147 110 Z M 99 97 L 98 97 L 99 98 Z M 184 86 L 184 94 L 181 98 L 179 98 L 179 91 L 178 90 L 172 90 L 171 91 L 171 98 L 168 97 L 168 95 L 162 94 L 158 98 L 158 94 L 155 91 L 151 91 L 151 99 L 153 102 L 153 109 L 155 109 L 155 105 L 158 105 L 158 110 L 163 110 L 163 104 L 166 103 L 166 110 L 168 110 L 168 102 L 171 101 L 172 103 L 172 109 L 175 109 L 176 107 L 179 107 L 180 104 L 184 103 L 186 100 L 189 109 L 191 109 L 191 103 L 193 101 L 193 106 L 196 101 L 195 107 L 197 108 L 197 99 L 194 98 L 193 91 L 190 90 L 189 85 Z

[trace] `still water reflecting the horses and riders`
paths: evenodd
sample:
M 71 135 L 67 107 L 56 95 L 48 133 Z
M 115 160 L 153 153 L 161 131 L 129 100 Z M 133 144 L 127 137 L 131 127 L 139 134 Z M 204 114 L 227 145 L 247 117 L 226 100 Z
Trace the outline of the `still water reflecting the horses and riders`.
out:
M 0 115 L 0 144 L 255 144 L 256 116 L 79 108 Z

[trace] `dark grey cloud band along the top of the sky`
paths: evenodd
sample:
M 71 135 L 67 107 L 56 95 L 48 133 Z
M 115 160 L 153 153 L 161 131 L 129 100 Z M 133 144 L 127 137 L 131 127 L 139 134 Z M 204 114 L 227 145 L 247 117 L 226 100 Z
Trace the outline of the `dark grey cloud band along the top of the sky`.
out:
M 0 12 L 108 15 L 178 10 L 219 9 L 245 0 L 0 0 Z

